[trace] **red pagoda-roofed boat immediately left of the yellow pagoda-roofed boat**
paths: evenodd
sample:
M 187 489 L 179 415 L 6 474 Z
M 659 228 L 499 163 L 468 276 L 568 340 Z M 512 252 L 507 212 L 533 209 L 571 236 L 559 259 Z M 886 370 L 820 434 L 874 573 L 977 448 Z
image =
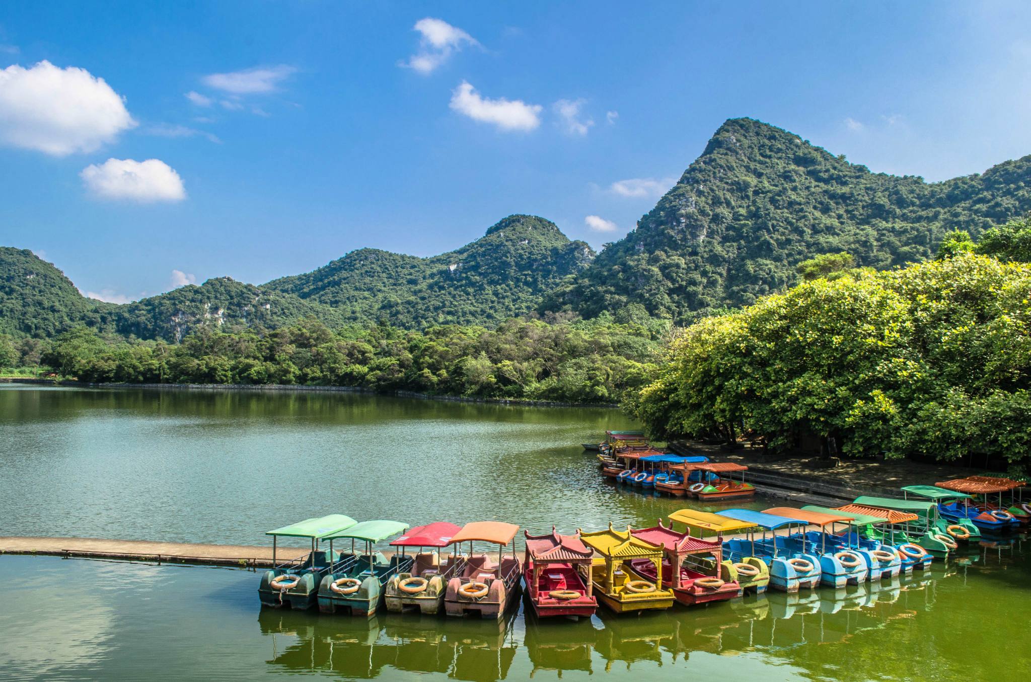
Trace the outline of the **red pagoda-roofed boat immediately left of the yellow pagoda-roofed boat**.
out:
M 594 550 L 577 535 L 559 535 L 554 525 L 547 535 L 523 533 L 523 578 L 534 613 L 538 617 L 593 616 L 598 609 L 591 580 Z

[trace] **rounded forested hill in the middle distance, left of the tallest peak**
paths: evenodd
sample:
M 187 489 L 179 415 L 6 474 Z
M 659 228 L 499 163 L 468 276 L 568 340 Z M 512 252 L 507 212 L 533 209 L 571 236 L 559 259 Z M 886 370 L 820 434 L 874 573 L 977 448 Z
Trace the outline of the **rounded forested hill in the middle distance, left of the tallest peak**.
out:
M 262 288 L 329 305 L 345 320 L 493 327 L 532 311 L 593 259 L 587 243 L 570 241 L 551 220 L 509 215 L 455 251 L 418 258 L 362 248 Z

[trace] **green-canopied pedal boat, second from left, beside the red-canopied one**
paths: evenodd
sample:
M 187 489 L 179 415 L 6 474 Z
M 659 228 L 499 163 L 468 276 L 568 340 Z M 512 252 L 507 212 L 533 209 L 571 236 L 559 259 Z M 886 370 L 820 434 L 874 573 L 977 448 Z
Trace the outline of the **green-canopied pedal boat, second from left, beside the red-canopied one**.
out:
M 374 616 L 384 594 L 384 585 L 398 573 L 410 572 L 413 561 L 411 556 L 404 554 L 394 554 L 387 559 L 383 553 L 375 551 L 374 545 L 407 530 L 407 523 L 380 519 L 362 521 L 326 537 L 331 554 L 333 543 L 338 540 L 351 540 L 351 552 L 340 554 L 323 576 L 319 585 L 319 610 L 323 613 L 342 611 L 353 616 Z M 362 553 L 356 549 L 359 541 L 365 543 Z

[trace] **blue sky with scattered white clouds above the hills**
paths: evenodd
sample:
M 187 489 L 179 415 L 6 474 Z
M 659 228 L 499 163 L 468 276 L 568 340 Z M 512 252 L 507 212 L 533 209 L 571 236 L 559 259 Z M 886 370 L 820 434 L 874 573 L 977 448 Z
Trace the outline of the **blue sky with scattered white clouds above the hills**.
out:
M 1031 152 L 1031 5 L 975 4 L 6 2 L 0 244 L 115 301 L 517 212 L 597 247 L 734 116 L 980 172 Z

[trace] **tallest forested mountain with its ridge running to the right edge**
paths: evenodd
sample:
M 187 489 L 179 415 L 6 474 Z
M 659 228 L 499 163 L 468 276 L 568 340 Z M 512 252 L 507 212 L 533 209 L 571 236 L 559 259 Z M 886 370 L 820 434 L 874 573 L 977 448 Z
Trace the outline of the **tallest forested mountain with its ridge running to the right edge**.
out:
M 658 316 L 752 304 L 795 266 L 849 251 L 859 266 L 930 258 L 954 229 L 979 235 L 1031 209 L 1031 157 L 928 183 L 871 173 L 752 118 L 726 122 L 638 223 L 542 306 L 586 317 L 628 303 Z

